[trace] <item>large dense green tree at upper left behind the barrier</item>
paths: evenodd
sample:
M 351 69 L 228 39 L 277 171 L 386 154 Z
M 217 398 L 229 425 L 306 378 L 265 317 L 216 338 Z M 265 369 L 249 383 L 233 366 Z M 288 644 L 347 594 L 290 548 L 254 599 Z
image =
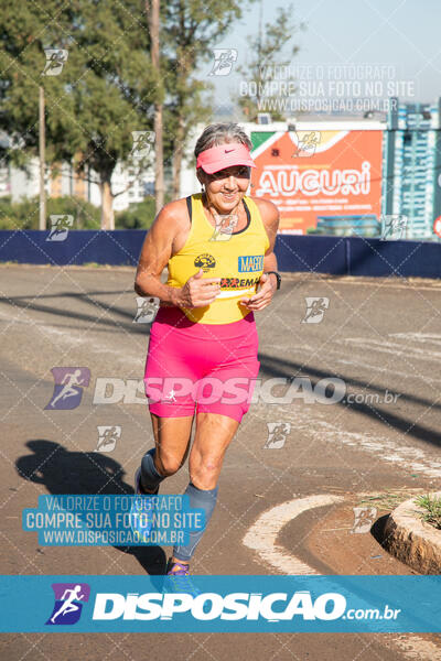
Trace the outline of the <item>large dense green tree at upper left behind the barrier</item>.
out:
M 37 153 L 42 85 L 46 162 L 75 159 L 77 172 L 99 185 L 101 227 L 111 229 L 112 201 L 122 193 L 111 187 L 117 162 L 140 171 L 150 161 L 149 144 L 141 151 L 132 134 L 152 131 L 157 98 L 144 2 L 3 0 L 0 26 L 0 129 L 12 138 L 3 158 L 24 165 Z M 66 51 L 57 75 L 47 48 Z

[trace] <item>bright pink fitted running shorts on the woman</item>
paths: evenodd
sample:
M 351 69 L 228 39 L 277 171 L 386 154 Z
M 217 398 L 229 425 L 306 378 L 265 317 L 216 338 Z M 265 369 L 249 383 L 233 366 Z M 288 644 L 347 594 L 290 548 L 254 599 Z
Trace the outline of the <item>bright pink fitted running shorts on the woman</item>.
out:
M 151 413 L 182 418 L 219 413 L 240 422 L 259 372 L 252 312 L 232 324 L 191 322 L 160 307 L 150 330 L 144 386 Z

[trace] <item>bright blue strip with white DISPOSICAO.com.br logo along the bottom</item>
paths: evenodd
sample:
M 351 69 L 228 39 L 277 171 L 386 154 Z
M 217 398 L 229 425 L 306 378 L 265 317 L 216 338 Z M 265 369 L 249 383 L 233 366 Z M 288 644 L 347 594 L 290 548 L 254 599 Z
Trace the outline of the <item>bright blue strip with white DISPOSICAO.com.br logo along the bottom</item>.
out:
M 441 632 L 441 576 L 1 576 L 3 632 Z

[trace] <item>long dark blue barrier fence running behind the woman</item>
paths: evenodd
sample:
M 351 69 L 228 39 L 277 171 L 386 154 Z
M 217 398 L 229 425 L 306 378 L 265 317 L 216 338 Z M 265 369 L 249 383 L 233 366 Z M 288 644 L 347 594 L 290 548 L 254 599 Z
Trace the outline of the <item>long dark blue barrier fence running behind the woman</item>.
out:
M 31 264 L 132 266 L 146 232 L 69 231 L 65 240 L 47 240 L 49 231 L 0 231 L 0 262 Z M 276 254 L 280 271 L 333 275 L 441 278 L 441 243 L 381 241 L 359 237 L 279 235 Z

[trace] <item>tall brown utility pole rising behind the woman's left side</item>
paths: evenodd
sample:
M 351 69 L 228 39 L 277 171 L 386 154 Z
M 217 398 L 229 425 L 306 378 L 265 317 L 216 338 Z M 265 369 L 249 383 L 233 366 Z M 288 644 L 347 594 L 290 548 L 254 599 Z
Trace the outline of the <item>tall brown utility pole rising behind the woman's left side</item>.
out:
M 158 80 L 161 79 L 160 55 L 159 55 L 159 22 L 160 22 L 160 0 L 146 0 L 146 13 L 149 21 L 151 58 L 153 69 L 158 74 Z M 162 87 L 162 84 L 161 84 Z M 162 89 L 161 97 L 162 97 Z M 164 158 L 162 140 L 162 100 L 154 104 L 154 198 L 157 214 L 164 205 Z

